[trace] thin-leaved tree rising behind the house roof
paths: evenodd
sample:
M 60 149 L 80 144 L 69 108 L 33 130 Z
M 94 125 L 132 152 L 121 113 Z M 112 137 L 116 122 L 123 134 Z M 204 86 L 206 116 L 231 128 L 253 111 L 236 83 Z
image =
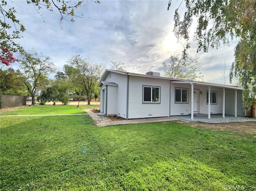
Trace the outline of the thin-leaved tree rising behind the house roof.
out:
M 200 73 L 200 65 L 197 59 L 192 57 L 182 58 L 182 55 L 171 55 L 169 63 L 164 62 L 163 67 L 165 76 L 168 78 L 184 79 L 184 80 L 196 80 L 202 79 L 202 73 Z

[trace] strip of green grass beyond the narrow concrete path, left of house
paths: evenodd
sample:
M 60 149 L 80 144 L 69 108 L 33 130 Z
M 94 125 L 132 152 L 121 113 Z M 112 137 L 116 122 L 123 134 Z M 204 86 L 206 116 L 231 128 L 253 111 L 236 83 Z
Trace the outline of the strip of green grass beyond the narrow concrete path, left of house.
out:
M 3 111 L 1 115 L 44 115 L 44 114 L 81 114 L 86 113 L 84 109 L 99 108 L 99 105 L 77 106 L 27 106 L 18 110 Z

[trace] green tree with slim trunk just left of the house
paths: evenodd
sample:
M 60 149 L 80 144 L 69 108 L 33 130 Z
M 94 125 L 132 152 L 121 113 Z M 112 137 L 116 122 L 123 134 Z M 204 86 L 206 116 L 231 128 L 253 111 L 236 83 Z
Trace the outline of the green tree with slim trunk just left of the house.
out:
M 67 69 L 66 75 L 69 73 L 73 77 L 73 83 L 84 89 L 88 98 L 88 105 L 90 105 L 90 100 L 104 67 L 92 59 L 82 58 L 79 54 L 72 55 L 67 63 L 69 65 L 64 65 L 64 68 Z

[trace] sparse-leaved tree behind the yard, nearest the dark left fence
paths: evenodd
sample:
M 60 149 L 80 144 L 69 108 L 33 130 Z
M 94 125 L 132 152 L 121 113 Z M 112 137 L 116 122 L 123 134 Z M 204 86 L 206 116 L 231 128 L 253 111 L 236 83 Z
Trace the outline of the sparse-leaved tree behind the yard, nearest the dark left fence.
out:
M 34 105 L 36 91 L 44 89 L 49 84 L 48 76 L 55 71 L 55 65 L 50 61 L 50 57 L 46 57 L 42 53 L 39 55 L 34 50 L 31 53 L 24 51 L 21 56 L 22 77 L 32 97 L 32 105 Z

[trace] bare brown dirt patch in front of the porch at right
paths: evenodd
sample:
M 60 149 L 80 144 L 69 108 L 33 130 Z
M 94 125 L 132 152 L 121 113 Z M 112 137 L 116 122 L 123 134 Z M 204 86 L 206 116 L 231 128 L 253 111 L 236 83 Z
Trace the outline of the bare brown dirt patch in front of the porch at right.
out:
M 187 123 L 187 122 L 182 122 Z M 236 132 L 239 134 L 253 134 L 256 136 L 256 122 L 230 122 L 230 123 L 201 123 L 201 122 L 190 122 L 189 126 L 198 128 L 210 128 L 216 130 L 227 130 L 231 132 Z

